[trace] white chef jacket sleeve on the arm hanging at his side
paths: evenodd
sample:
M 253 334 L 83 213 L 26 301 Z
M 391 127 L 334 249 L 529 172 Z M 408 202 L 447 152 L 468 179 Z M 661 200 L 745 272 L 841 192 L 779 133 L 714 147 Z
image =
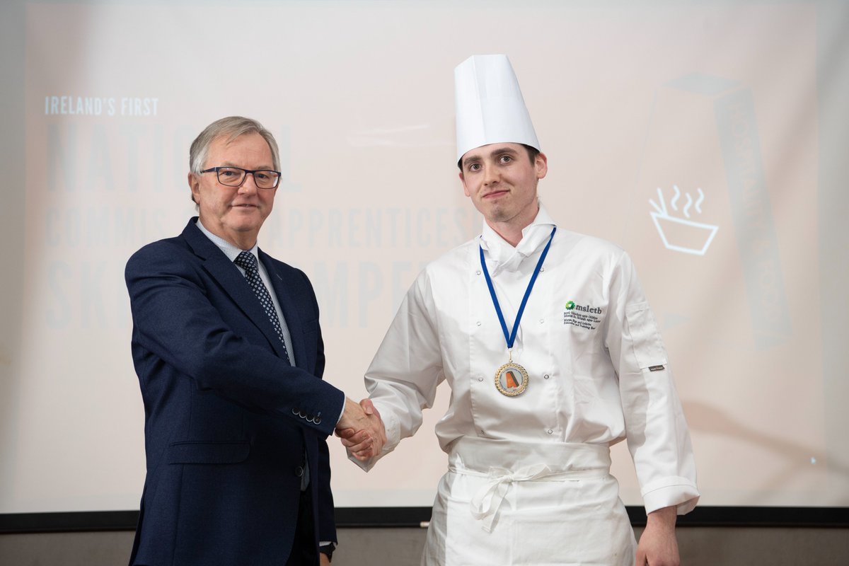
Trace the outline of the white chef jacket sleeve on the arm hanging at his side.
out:
M 689 513 L 699 500 L 693 447 L 666 347 L 625 252 L 612 266 L 605 340 L 646 513 L 673 505 Z

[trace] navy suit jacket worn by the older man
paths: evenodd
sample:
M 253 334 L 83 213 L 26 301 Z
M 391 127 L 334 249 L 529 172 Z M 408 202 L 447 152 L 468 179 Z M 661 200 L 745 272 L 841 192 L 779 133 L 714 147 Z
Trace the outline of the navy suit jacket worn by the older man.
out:
M 305 454 L 317 544 L 336 540 L 325 440 L 345 395 L 321 379 L 306 275 L 259 252 L 290 329 L 292 367 L 245 277 L 196 220 L 127 262 L 147 455 L 130 563 L 280 566 Z

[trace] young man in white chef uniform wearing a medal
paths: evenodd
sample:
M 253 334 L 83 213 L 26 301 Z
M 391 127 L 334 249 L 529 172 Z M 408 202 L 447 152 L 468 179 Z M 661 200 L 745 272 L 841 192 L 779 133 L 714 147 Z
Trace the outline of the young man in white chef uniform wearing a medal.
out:
M 548 162 L 507 57 L 476 55 L 454 77 L 460 180 L 482 233 L 419 274 L 368 368 L 363 405 L 385 445 L 343 442 L 368 470 L 445 380 L 448 471 L 423 564 L 678 564 L 694 458 L 633 264 L 538 200 Z M 610 475 L 621 440 L 648 513 L 639 544 Z

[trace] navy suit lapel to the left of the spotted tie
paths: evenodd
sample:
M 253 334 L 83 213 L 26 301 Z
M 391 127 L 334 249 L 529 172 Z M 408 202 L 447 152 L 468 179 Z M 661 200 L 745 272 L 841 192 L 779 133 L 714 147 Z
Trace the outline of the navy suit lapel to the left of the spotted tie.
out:
M 279 357 L 283 357 L 283 343 L 278 338 L 277 332 L 274 331 L 273 324 L 268 319 L 260 301 L 256 299 L 253 289 L 250 289 L 250 285 L 245 281 L 245 276 L 239 272 L 239 268 L 228 259 L 227 255 L 224 255 L 224 252 L 212 243 L 210 238 L 206 238 L 205 234 L 200 232 L 200 228 L 194 226 L 195 220 L 193 218 L 188 222 L 188 226 L 183 230 L 183 238 L 186 239 L 194 254 L 203 260 L 206 272 L 230 295 L 233 303 L 245 313 L 245 317 L 248 317 L 250 322 L 253 322 L 256 328 L 260 329 L 274 352 Z M 266 264 L 266 262 L 263 261 L 263 264 Z M 267 266 L 266 269 L 268 269 Z M 286 316 L 285 311 L 284 316 Z M 289 322 L 288 317 L 286 321 Z

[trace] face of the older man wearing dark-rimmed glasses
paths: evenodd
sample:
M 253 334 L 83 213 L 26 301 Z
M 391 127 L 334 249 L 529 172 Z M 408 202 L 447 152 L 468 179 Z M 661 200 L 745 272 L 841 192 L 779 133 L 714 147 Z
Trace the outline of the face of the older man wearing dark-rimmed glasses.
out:
M 249 171 L 274 169 L 271 149 L 256 132 L 239 136 L 230 143 L 227 137 L 217 137 L 210 144 L 203 168 L 223 166 Z M 241 249 L 256 244 L 262 222 L 273 208 L 276 188 L 256 188 L 253 175 L 245 177 L 241 187 L 228 187 L 218 182 L 214 171 L 189 173 L 188 185 L 199 206 L 200 221 L 207 230 Z

